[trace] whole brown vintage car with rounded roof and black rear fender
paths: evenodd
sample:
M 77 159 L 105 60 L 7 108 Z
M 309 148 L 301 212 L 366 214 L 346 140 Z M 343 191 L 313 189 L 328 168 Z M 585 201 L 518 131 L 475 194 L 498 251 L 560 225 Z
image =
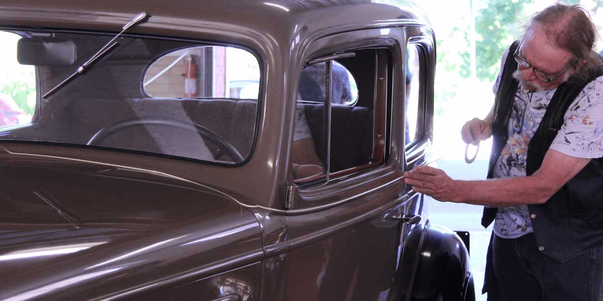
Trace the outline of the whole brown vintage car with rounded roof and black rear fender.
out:
M 0 299 L 474 300 L 393 2 L 2 1 Z

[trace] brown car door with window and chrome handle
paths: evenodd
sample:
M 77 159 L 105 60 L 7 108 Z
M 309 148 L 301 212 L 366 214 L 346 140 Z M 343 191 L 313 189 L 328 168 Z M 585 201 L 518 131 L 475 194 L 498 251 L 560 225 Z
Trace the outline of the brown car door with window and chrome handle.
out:
M 400 152 L 405 41 L 403 28 L 381 28 L 309 46 L 314 55 L 301 72 L 296 108 L 306 120 L 296 119 L 295 131 L 303 132 L 297 123 L 308 124 L 323 166 L 313 175 L 295 170 L 289 187 L 284 300 L 394 300 L 399 294 L 400 277 L 407 276 L 399 270 L 401 230 L 411 206 Z M 336 91 L 338 66 L 349 72 L 357 92 L 347 94 L 355 97 Z M 305 72 L 324 81 L 315 93 L 324 96 L 307 96 Z

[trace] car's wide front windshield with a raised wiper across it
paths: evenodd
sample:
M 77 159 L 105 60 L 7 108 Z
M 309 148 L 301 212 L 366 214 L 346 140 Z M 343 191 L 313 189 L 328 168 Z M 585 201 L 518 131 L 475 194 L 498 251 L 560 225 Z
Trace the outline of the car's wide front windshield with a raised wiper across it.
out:
M 0 31 L 0 140 L 80 144 L 236 164 L 250 154 L 260 68 L 251 52 L 113 35 Z

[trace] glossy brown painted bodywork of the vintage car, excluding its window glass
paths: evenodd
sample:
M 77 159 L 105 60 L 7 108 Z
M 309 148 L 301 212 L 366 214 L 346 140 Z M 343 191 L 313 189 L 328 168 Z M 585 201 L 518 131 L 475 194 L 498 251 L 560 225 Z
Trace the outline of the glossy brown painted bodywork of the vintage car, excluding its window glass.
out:
M 0 26 L 8 28 L 112 33 L 146 11 L 150 19 L 131 33 L 244 46 L 259 58 L 264 78 L 256 144 L 242 166 L 0 143 L 0 299 L 410 296 L 408 271 L 415 271 L 425 236 L 407 235 L 425 224 L 408 227 L 391 217 L 423 214 L 400 177 L 423 163 L 429 148 L 434 49 L 425 82 L 425 141 L 412 149 L 414 161 L 405 160 L 398 117 L 404 116 L 404 87 L 395 84 L 387 92 L 396 117 L 388 120 L 384 164 L 301 191 L 297 209 L 307 211 L 283 208 L 304 64 L 337 47 L 388 48 L 390 80 L 399 81 L 406 40 L 431 37 L 431 29 L 415 26 L 428 20 L 412 7 L 373 2 L 379 1 L 2 2 Z

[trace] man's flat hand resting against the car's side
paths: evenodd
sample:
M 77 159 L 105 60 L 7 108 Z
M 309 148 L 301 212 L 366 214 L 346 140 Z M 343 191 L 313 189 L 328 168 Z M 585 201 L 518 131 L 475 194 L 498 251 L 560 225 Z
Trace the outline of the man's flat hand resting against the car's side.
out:
M 412 190 L 425 193 L 441 202 L 461 202 L 458 182 L 451 179 L 441 169 L 429 166 L 415 166 L 404 173 L 404 182 L 412 185 Z

